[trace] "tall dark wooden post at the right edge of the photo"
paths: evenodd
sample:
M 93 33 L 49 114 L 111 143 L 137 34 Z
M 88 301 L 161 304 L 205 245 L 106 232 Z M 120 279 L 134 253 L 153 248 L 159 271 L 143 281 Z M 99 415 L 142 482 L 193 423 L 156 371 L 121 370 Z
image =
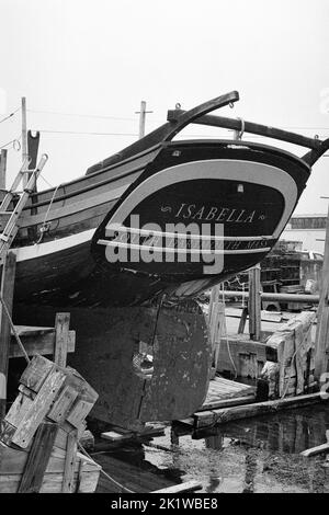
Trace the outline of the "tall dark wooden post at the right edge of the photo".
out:
M 329 209 L 326 227 L 325 258 L 322 266 L 322 281 L 320 282 L 320 301 L 318 306 L 318 321 L 315 342 L 315 379 L 321 380 L 322 374 L 328 371 L 329 358 Z M 324 378 L 326 382 L 326 378 Z

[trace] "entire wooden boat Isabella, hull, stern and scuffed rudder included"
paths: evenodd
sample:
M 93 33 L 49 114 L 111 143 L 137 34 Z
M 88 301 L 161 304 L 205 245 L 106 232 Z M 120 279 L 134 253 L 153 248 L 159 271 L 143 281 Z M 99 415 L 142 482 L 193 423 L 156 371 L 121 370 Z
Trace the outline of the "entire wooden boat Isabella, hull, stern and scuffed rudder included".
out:
M 32 194 L 23 210 L 14 321 L 49 325 L 70 311 L 79 342 L 71 364 L 100 393 L 98 420 L 138 427 L 202 404 L 212 346 L 193 298 L 271 251 L 328 148 L 208 114 L 237 100 L 231 92 L 170 111 L 157 130 L 82 178 Z M 235 137 L 173 140 L 193 123 Z M 298 158 L 242 140 L 243 131 L 310 151 Z M 143 356 L 152 356 L 152 373 L 136 368 Z

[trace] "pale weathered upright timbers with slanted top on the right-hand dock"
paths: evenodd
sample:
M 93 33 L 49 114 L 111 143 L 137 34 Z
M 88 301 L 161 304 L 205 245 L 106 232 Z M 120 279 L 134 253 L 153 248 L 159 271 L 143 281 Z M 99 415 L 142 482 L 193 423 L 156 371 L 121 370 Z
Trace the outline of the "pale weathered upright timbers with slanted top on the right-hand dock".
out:
M 279 385 L 275 389 L 280 397 L 304 393 L 314 382 L 311 325 L 315 317 L 315 312 L 304 311 L 282 325 L 266 341 L 268 346 L 277 351 Z

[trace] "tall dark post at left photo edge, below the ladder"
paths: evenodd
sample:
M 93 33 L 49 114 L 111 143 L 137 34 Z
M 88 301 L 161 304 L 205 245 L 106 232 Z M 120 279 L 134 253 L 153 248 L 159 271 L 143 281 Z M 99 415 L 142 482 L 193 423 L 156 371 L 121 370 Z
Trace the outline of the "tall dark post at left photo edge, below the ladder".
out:
M 15 265 L 15 254 L 13 252 L 8 252 L 2 271 L 1 296 L 10 314 L 12 312 L 13 304 Z M 11 327 L 2 307 L 0 309 L 0 420 L 2 420 L 5 415 L 7 377 Z

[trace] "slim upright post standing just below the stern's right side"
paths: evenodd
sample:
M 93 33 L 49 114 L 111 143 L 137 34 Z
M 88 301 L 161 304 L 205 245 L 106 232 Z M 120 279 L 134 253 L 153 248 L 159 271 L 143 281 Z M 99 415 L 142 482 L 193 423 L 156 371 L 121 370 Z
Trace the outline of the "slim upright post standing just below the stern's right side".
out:
M 249 333 L 250 340 L 260 340 L 261 333 L 261 283 L 260 265 L 249 271 Z

